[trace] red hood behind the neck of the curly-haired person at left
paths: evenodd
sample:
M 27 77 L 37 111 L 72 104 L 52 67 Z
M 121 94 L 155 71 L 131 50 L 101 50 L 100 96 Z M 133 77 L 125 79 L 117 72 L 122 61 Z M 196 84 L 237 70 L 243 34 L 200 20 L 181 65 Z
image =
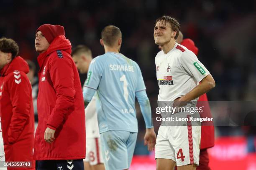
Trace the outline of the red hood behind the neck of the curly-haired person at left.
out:
M 10 63 L 5 65 L 2 70 L 0 70 L 0 75 L 8 75 L 14 70 L 23 71 L 27 74 L 29 72 L 28 63 L 22 57 L 17 56 Z

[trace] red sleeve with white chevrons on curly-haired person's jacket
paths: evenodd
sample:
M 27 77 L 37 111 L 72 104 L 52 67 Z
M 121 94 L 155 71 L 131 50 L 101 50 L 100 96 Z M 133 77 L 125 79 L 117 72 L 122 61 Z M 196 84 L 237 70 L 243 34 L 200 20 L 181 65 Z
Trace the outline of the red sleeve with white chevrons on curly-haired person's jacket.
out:
M 13 115 L 8 130 L 8 141 L 13 144 L 20 137 L 30 117 L 32 87 L 27 75 L 24 72 L 11 75 L 8 80 L 8 91 L 13 107 Z

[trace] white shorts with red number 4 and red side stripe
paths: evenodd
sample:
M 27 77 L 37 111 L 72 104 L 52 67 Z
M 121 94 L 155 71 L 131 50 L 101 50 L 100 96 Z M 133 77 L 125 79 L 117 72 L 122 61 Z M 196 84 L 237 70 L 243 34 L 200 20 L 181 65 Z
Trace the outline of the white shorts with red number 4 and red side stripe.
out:
M 181 117 L 187 117 L 187 115 L 181 115 Z M 183 121 L 179 122 L 179 125 L 161 125 L 156 138 L 155 159 L 172 159 L 177 166 L 199 165 L 201 126 L 199 122 L 196 124 L 192 122 L 191 125 L 191 121 Z

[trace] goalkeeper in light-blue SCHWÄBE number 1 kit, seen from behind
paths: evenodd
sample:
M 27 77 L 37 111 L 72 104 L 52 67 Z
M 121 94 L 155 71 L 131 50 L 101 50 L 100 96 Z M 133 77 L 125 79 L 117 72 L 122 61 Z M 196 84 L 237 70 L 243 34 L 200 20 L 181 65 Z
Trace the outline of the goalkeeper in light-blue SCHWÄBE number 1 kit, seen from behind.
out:
M 84 85 L 84 101 L 90 102 L 97 90 L 100 108 L 98 122 L 106 170 L 127 170 L 131 165 L 137 140 L 138 121 L 135 97 L 146 124 L 144 144 L 155 148 L 156 134 L 151 120 L 151 107 L 141 70 L 136 62 L 120 52 L 122 34 L 114 25 L 101 32 L 100 44 L 105 54 L 95 57 Z

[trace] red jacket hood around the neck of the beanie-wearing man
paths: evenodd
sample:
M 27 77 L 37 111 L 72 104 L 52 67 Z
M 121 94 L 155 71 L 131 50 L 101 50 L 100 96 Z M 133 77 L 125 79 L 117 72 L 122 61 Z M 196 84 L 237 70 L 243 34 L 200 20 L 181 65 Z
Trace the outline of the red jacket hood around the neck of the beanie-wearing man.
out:
M 40 69 L 41 66 L 44 64 L 44 60 L 46 59 L 46 57 L 56 50 L 63 50 L 71 55 L 71 43 L 68 39 L 66 39 L 64 35 L 59 35 L 55 37 L 46 52 L 38 55 L 37 61 Z

